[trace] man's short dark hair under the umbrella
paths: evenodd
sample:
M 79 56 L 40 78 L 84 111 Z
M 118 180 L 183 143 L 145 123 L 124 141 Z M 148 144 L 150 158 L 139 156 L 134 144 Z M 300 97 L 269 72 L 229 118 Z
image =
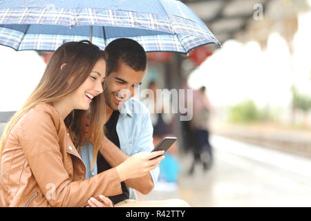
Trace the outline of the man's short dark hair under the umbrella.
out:
M 135 71 L 146 70 L 146 52 L 137 41 L 126 38 L 115 39 L 106 46 L 105 50 L 108 52 L 107 75 L 118 70 L 119 61 Z

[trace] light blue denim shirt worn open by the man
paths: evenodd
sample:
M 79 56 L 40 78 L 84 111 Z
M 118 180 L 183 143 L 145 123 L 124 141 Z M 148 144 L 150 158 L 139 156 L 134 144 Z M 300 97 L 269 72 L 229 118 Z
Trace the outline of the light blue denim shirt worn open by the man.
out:
M 127 155 L 139 152 L 150 152 L 153 150 L 153 126 L 150 113 L 144 104 L 135 99 L 129 99 L 120 108 L 117 120 L 117 135 L 120 140 L 120 149 Z M 80 155 L 86 166 L 86 177 L 88 179 L 97 175 L 97 164 L 91 169 L 94 147 L 88 143 L 81 148 Z M 160 173 L 159 166 L 150 171 L 154 186 L 158 182 Z M 129 198 L 137 200 L 135 191 L 129 186 Z

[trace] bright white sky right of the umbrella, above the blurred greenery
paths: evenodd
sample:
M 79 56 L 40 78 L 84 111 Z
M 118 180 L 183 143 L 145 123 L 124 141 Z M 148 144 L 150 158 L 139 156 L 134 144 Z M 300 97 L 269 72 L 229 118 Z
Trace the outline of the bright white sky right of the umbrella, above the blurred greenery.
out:
M 311 95 L 310 23 L 310 12 L 299 17 L 292 56 L 285 40 L 276 32 L 270 35 L 265 51 L 255 41 L 226 41 L 223 48 L 191 73 L 189 86 L 199 88 L 204 82 L 214 106 L 231 106 L 250 98 L 261 107 L 287 107 L 294 82 L 299 90 Z

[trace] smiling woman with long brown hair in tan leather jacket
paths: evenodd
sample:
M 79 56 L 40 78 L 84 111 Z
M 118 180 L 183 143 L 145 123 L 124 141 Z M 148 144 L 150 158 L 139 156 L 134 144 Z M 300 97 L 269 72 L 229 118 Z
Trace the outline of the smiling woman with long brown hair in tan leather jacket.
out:
M 91 197 L 122 193 L 120 182 L 145 175 L 164 158 L 149 160 L 161 151 L 138 153 L 84 180 L 86 169 L 75 148 L 84 141 L 79 116 L 90 111 L 94 164 L 104 136 L 105 59 L 89 41 L 68 42 L 55 51 L 1 137 L 0 206 L 87 206 Z

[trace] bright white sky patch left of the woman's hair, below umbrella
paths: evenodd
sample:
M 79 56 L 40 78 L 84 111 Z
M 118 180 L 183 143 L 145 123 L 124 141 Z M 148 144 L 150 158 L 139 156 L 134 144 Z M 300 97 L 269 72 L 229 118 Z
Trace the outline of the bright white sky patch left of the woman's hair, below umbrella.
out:
M 35 51 L 0 46 L 0 111 L 17 111 L 39 83 L 46 64 Z

